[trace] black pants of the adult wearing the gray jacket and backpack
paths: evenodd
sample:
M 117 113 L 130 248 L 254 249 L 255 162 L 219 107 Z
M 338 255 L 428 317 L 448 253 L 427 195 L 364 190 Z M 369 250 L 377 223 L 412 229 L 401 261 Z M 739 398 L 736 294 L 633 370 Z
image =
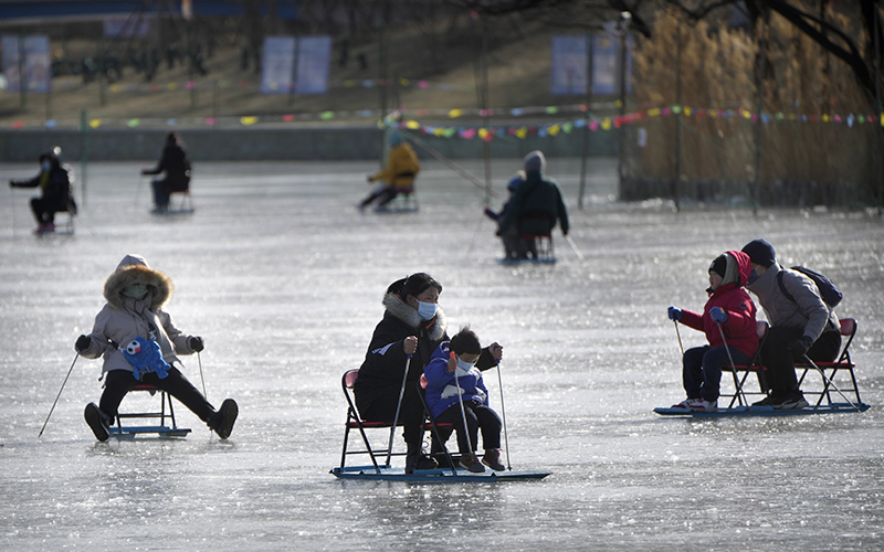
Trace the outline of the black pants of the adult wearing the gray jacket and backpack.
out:
M 761 347 L 761 362 L 767 368 L 767 383 L 771 391 L 788 391 L 798 389 L 798 378 L 794 373 L 794 361 L 789 343 L 801 339 L 803 328 L 772 326 L 767 333 L 765 344 Z M 811 360 L 828 362 L 834 360 L 841 350 L 841 333 L 824 331 L 808 351 Z

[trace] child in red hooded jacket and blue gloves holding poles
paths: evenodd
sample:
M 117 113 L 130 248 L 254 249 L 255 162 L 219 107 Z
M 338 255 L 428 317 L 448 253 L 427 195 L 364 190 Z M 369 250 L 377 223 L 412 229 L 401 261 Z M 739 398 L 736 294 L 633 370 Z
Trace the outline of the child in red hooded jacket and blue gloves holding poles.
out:
M 709 300 L 703 315 L 669 308 L 670 320 L 705 332 L 709 341 L 709 344 L 685 351 L 682 381 L 687 399 L 673 408 L 717 411 L 722 367 L 729 365 L 732 357 L 737 364 L 748 364 L 758 349 L 755 304 L 743 288 L 750 273 L 749 256 L 739 251 L 728 251 L 709 266 L 709 288 L 706 290 Z M 722 339 L 723 332 L 727 347 Z

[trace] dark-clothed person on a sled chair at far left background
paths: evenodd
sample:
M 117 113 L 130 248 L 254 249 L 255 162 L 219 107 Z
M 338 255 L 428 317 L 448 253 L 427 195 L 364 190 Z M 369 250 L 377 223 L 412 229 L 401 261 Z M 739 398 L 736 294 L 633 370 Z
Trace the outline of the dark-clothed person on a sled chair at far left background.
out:
M 31 200 L 31 211 L 36 219 L 35 234 L 55 232 L 55 213 L 76 214 L 76 202 L 71 192 L 73 171 L 62 166 L 60 148 L 40 153 L 40 173 L 30 180 L 10 180 L 10 188 L 40 188 L 40 197 Z

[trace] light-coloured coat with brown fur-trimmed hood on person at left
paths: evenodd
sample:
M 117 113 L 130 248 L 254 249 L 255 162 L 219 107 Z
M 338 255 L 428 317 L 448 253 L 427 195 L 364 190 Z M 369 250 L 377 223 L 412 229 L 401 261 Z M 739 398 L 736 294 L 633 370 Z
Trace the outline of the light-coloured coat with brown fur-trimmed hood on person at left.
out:
M 123 290 L 134 284 L 148 288 L 144 299 L 133 299 Z M 171 317 L 162 310 L 172 296 L 172 283 L 168 276 L 147 266 L 138 255 L 126 255 L 104 285 L 107 304 L 95 317 L 90 346 L 81 351 L 87 359 L 104 355 L 103 372 L 110 370 L 133 371 L 131 364 L 118 347 L 126 347 L 137 337 L 154 339 L 160 347 L 162 359 L 171 364 L 179 362 L 177 353 L 192 354 L 189 339 L 175 327 Z

